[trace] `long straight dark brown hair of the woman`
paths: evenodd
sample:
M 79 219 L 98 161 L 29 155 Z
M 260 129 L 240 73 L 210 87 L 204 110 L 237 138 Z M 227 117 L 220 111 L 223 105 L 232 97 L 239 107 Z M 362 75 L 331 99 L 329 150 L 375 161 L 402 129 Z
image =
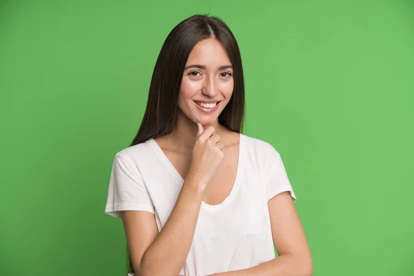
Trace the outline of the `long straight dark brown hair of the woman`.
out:
M 242 132 L 244 120 L 244 76 L 239 46 L 230 28 L 217 17 L 195 14 L 181 21 L 168 34 L 159 52 L 150 83 L 144 118 L 130 146 L 168 135 L 177 119 L 177 101 L 188 56 L 195 44 L 215 38 L 221 42 L 233 66 L 234 90 L 219 124 Z M 128 273 L 134 273 L 128 248 Z

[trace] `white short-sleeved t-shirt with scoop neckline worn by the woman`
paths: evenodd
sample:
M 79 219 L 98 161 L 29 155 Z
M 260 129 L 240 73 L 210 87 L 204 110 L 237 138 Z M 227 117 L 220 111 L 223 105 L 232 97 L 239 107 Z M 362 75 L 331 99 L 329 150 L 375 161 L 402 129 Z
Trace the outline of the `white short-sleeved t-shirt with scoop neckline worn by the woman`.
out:
M 144 210 L 158 230 L 175 206 L 184 179 L 154 139 L 115 155 L 105 212 Z M 279 152 L 265 141 L 240 135 L 235 184 L 221 204 L 201 203 L 193 243 L 180 275 L 205 276 L 250 268 L 275 258 L 267 202 L 293 189 Z

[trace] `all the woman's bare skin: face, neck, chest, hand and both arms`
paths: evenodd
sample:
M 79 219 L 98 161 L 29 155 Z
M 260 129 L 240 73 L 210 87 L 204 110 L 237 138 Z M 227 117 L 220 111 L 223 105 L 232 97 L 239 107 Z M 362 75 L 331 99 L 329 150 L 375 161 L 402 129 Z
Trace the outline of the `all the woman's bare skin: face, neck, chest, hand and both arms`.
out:
M 234 88 L 233 69 L 227 66 L 231 63 L 219 41 L 197 43 L 181 82 L 176 128 L 155 139 L 184 179 L 161 232 L 152 213 L 121 212 L 137 275 L 178 275 L 190 250 L 201 201 L 219 204 L 233 188 L 239 134 L 218 123 Z M 195 101 L 208 100 L 220 101 L 215 112 L 207 114 L 195 106 Z M 199 121 L 198 130 L 195 121 Z M 268 201 L 268 207 L 279 257 L 254 268 L 215 275 L 312 275 L 311 252 L 292 198 L 281 193 Z

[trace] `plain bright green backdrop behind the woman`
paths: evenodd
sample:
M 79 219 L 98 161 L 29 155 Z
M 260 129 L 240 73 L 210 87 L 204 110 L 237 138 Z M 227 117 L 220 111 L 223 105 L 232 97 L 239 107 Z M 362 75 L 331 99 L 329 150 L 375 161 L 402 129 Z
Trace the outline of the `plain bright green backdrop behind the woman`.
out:
M 168 32 L 221 17 L 314 275 L 414 275 L 413 1 L 0 1 L 0 275 L 126 275 L 103 213 Z

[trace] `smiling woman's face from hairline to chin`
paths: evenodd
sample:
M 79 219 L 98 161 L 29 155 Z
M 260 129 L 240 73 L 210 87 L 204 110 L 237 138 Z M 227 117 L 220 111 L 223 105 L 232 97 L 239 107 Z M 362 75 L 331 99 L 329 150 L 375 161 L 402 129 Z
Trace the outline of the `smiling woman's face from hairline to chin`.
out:
M 233 68 L 217 39 L 199 41 L 188 57 L 178 106 L 192 121 L 208 126 L 218 121 L 233 94 Z

